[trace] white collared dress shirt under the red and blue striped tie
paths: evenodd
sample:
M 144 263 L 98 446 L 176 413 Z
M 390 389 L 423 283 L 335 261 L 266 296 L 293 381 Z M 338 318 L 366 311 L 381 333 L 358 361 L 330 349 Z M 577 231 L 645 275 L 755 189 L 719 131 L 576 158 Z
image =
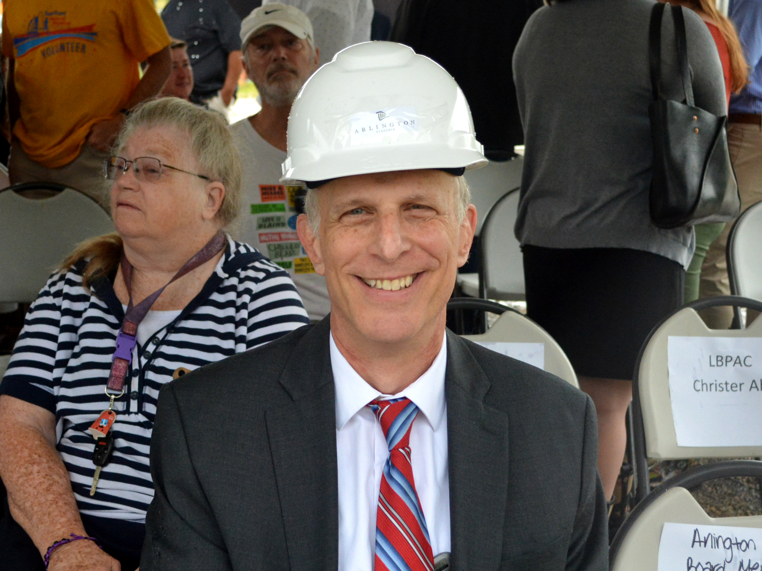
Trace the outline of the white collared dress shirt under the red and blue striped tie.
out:
M 376 415 L 375 398 L 408 397 L 419 409 L 410 432 L 415 489 L 421 500 L 434 556 L 450 551 L 450 477 L 447 473 L 447 343 L 421 377 L 399 394 L 376 391 L 344 359 L 331 334 L 336 388 L 338 456 L 338 571 L 373 571 L 376 509 L 389 447 Z

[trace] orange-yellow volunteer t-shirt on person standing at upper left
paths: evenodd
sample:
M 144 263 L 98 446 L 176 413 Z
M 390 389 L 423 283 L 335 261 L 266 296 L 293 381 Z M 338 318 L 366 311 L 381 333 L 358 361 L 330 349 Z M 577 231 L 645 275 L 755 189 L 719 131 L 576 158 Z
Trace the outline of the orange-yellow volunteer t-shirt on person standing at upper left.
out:
M 169 45 L 152 0 L 5 0 L 2 53 L 21 100 L 14 136 L 29 158 L 62 167 L 94 123 L 117 116 L 138 65 Z

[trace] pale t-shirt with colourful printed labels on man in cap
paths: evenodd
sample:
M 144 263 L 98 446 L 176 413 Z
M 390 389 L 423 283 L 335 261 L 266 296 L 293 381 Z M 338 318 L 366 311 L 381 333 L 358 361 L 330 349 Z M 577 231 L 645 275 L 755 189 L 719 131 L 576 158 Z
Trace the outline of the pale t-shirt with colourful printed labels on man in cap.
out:
M 231 232 L 233 238 L 251 244 L 287 270 L 309 318 L 322 319 L 331 311 L 325 278 L 315 273 L 296 235 L 296 196 L 303 194 L 305 187 L 280 183 L 286 153 L 262 139 L 248 119 L 230 129 L 243 166 L 243 210 L 238 228 Z

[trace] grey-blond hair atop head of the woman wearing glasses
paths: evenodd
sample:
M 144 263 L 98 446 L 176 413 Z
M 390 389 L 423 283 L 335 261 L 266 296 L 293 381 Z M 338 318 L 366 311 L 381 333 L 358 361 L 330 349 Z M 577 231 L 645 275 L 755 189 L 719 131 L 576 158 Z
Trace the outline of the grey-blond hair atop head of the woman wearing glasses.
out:
M 114 144 L 115 155 L 136 129 L 171 126 L 186 132 L 200 173 L 225 186 L 216 219 L 230 225 L 241 212 L 241 159 L 225 117 L 178 97 L 146 101 L 130 113 Z

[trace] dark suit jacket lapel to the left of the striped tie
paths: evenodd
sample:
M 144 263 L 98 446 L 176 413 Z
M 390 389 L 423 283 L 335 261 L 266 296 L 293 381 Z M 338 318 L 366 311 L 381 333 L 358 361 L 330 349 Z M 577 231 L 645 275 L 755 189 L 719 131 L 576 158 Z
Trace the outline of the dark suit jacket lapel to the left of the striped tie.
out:
M 296 346 L 280 384 L 293 401 L 267 410 L 290 568 L 338 566 L 336 412 L 329 318 Z

